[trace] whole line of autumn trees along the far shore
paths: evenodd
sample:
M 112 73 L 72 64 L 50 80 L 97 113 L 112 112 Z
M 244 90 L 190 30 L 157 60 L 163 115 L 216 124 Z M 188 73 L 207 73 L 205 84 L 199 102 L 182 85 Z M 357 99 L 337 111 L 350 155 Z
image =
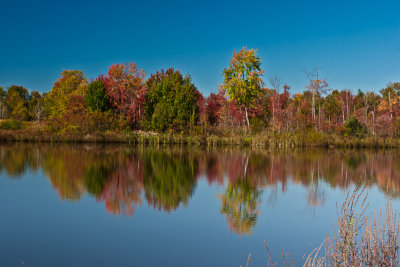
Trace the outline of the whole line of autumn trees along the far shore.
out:
M 263 80 L 256 50 L 235 51 L 223 70 L 217 93 L 204 97 L 191 76 L 174 68 L 149 78 L 135 63 L 116 64 L 89 81 L 82 71 L 65 70 L 48 93 L 22 86 L 0 87 L 1 129 L 20 121 L 40 122 L 41 129 L 93 133 L 132 130 L 219 134 L 262 131 L 319 131 L 343 137 L 400 135 L 400 83 L 380 93 L 334 89 L 306 73 L 303 92 L 290 93 L 279 77 Z

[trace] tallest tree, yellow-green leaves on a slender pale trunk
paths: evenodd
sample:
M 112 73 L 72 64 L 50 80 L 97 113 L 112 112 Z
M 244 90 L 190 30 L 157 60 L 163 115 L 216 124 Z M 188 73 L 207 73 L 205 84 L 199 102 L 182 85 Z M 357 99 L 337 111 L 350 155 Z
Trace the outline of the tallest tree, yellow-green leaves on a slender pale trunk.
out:
M 254 107 L 255 100 L 262 92 L 264 82 L 261 78 L 261 58 L 256 56 L 257 50 L 243 47 L 234 51 L 229 67 L 223 71 L 222 88 L 226 90 L 230 100 L 243 107 L 246 114 L 247 128 L 250 128 L 248 109 Z

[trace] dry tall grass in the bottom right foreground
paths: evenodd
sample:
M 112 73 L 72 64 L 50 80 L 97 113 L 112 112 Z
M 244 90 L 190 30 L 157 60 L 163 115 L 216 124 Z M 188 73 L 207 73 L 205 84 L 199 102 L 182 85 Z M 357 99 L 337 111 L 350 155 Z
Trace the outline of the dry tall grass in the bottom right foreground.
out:
M 305 259 L 304 267 L 322 266 L 398 266 L 399 261 L 399 221 L 390 201 L 384 214 L 365 214 L 368 194 L 365 187 L 354 189 L 346 195 L 340 209 L 337 207 L 337 226 Z M 272 260 L 268 247 L 267 266 L 277 266 Z M 249 255 L 246 267 L 251 263 Z M 290 262 L 294 266 L 293 261 Z M 282 251 L 282 264 L 287 266 Z M 296 265 L 298 266 L 298 265 Z

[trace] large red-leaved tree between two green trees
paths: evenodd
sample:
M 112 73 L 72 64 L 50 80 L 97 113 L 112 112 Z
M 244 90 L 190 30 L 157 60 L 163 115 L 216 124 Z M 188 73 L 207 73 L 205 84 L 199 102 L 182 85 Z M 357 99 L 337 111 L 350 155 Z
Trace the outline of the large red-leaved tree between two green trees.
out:
M 115 64 L 103 77 L 110 103 L 135 128 L 144 118 L 145 72 L 135 63 Z

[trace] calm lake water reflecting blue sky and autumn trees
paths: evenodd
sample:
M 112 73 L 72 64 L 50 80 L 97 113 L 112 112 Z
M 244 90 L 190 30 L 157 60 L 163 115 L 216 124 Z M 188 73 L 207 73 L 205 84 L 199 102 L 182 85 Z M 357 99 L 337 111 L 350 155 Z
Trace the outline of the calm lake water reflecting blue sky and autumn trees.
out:
M 0 145 L 0 266 L 300 265 L 360 183 L 398 212 L 399 152 Z

